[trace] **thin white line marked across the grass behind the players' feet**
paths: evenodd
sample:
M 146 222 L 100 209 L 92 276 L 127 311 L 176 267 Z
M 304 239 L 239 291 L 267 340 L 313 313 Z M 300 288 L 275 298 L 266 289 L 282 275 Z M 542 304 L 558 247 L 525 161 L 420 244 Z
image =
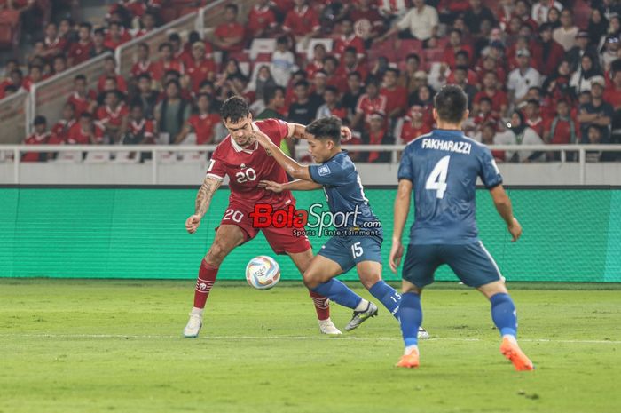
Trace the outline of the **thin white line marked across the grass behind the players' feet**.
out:
M 0 338 L 183 338 L 179 335 L 126 335 L 126 334 L 0 334 Z M 208 340 L 346 340 L 346 341 L 401 341 L 401 338 L 364 338 L 364 337 L 326 337 L 326 336 L 206 336 Z M 192 340 L 191 338 L 185 338 Z M 481 338 L 435 337 L 423 341 L 483 341 Z M 565 343 L 565 344 L 621 344 L 621 340 L 556 340 L 550 338 L 521 338 L 525 343 Z

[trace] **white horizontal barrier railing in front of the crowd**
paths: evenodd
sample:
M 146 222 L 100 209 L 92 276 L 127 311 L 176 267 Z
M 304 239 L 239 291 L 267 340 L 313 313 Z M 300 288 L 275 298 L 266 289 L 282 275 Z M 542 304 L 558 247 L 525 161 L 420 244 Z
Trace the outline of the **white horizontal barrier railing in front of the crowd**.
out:
M 402 152 L 405 145 L 343 145 L 343 149 L 358 152 L 390 152 L 391 162 L 397 163 L 398 153 Z M 304 145 L 297 147 L 303 150 Z M 566 153 L 578 153 L 579 183 L 584 185 L 586 182 L 586 152 L 621 152 L 621 145 L 494 145 L 489 147 L 491 150 L 499 151 L 529 151 L 529 152 L 560 152 L 561 162 L 566 162 Z M 158 162 L 160 153 L 177 152 L 211 152 L 216 149 L 216 145 L 204 146 L 168 146 L 168 145 L 3 145 L 0 152 L 12 152 L 13 158 L 13 182 L 20 183 L 20 164 L 21 155 L 28 152 L 146 152 L 151 154 L 152 183 L 156 185 Z

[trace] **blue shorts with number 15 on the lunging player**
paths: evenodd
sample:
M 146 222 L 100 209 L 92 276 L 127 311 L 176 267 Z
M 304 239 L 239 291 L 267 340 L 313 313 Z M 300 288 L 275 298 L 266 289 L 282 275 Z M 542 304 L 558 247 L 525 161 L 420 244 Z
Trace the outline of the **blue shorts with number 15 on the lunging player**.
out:
M 379 235 L 333 236 L 321 247 L 317 255 L 338 263 L 344 274 L 362 261 L 375 261 L 381 264 L 382 241 Z

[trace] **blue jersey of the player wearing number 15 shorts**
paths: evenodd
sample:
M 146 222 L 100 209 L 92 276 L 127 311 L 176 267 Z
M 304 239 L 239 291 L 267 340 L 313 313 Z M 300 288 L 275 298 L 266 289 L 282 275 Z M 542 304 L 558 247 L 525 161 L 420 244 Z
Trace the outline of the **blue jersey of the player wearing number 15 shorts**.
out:
M 309 172 L 312 180 L 324 186 L 327 203 L 333 214 L 347 214 L 358 207 L 357 222 L 354 223 L 354 214 L 350 213 L 342 227 L 350 228 L 362 222 L 379 222 L 366 199 L 356 165 L 346 151 L 334 155 L 325 163 L 309 166 Z

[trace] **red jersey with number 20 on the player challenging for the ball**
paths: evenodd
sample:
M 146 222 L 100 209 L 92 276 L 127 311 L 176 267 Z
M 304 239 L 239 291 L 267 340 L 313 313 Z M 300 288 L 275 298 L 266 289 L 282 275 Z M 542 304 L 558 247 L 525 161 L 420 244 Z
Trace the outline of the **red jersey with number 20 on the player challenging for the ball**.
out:
M 288 135 L 287 123 L 278 119 L 255 122 L 253 128 L 263 131 L 278 146 Z M 270 203 L 278 208 L 295 201 L 290 191 L 275 194 L 258 187 L 259 181 L 263 179 L 280 183 L 287 182 L 285 170 L 274 161 L 271 155 L 268 155 L 258 142 L 248 148 L 242 148 L 235 143 L 231 135 L 224 138 L 211 155 L 207 176 L 224 179 L 226 175 L 230 179 L 230 202 Z

